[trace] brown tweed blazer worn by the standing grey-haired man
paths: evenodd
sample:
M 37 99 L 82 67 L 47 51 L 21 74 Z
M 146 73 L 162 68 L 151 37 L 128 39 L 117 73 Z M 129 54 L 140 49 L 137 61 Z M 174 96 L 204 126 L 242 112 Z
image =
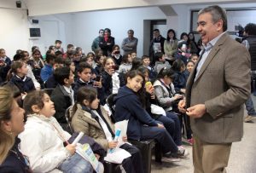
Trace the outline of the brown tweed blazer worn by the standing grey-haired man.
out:
M 210 143 L 241 141 L 243 103 L 250 95 L 247 49 L 224 34 L 212 47 L 194 82 L 196 66 L 187 83 L 187 107 L 205 104 L 207 113 L 190 118 L 193 133 Z

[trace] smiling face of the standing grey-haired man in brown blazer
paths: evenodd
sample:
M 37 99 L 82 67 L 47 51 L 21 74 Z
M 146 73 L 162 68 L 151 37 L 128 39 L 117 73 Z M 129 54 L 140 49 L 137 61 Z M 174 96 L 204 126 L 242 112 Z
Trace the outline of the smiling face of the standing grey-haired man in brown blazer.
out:
M 209 43 L 223 32 L 223 20 L 213 23 L 212 14 L 200 14 L 197 20 L 197 32 L 201 34 L 202 43 Z

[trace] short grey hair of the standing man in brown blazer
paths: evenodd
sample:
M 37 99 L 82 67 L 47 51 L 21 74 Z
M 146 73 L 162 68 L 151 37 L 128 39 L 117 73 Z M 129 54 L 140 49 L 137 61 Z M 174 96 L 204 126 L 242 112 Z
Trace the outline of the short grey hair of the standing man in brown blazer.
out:
M 223 31 L 227 31 L 228 29 L 228 20 L 227 20 L 227 14 L 226 10 L 222 9 L 218 5 L 212 5 L 209 6 L 205 9 L 201 9 L 198 12 L 198 15 L 205 14 L 205 13 L 210 13 L 212 14 L 212 21 L 213 23 L 218 22 L 218 20 L 223 20 Z

